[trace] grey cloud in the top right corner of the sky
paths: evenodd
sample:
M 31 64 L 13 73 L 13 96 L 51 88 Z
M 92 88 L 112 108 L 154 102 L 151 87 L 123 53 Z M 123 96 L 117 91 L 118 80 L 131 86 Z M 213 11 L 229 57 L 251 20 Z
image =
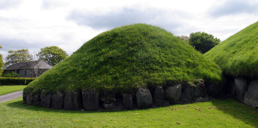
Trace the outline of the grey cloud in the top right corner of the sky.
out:
M 242 1 L 242 0 L 227 0 L 221 5 L 217 5 L 210 9 L 212 17 L 220 17 L 224 15 L 239 14 L 239 13 L 257 13 L 258 1 Z

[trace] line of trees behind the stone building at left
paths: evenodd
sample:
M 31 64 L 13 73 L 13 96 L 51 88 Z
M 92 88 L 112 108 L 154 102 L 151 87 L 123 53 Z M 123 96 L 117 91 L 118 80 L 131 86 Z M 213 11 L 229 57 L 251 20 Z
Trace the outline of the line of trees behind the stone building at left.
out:
M 0 45 L 0 49 L 2 46 Z M 3 56 L 0 54 L 0 76 L 3 74 L 3 69 L 9 67 L 12 64 L 29 62 L 35 60 L 43 60 L 46 63 L 55 66 L 65 58 L 68 54 L 57 46 L 46 46 L 40 48 L 39 52 L 30 54 L 28 49 L 9 50 L 8 55 L 5 57 L 5 63 L 3 62 Z

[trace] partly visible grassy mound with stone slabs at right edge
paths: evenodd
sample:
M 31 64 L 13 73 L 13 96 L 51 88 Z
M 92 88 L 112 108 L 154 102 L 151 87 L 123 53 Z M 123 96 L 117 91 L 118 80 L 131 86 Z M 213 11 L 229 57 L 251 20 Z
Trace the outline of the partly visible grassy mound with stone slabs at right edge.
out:
M 204 54 L 218 64 L 228 79 L 228 92 L 258 107 L 258 22 L 230 36 Z

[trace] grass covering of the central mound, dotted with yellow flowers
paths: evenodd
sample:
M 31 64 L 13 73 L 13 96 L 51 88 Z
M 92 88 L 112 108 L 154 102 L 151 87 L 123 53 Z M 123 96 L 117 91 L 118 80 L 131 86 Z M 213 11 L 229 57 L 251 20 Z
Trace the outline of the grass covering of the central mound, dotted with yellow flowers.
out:
M 92 38 L 70 57 L 31 82 L 33 90 L 133 92 L 140 87 L 221 81 L 219 67 L 164 29 L 127 25 Z

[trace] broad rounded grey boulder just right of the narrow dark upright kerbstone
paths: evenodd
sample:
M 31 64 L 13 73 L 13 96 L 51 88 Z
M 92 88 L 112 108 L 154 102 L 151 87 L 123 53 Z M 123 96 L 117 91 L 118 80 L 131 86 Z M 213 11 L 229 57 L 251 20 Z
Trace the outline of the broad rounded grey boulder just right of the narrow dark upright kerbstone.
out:
M 181 89 L 181 84 L 173 87 L 167 87 L 165 90 L 165 100 L 169 101 L 171 104 L 176 104 L 181 97 Z

